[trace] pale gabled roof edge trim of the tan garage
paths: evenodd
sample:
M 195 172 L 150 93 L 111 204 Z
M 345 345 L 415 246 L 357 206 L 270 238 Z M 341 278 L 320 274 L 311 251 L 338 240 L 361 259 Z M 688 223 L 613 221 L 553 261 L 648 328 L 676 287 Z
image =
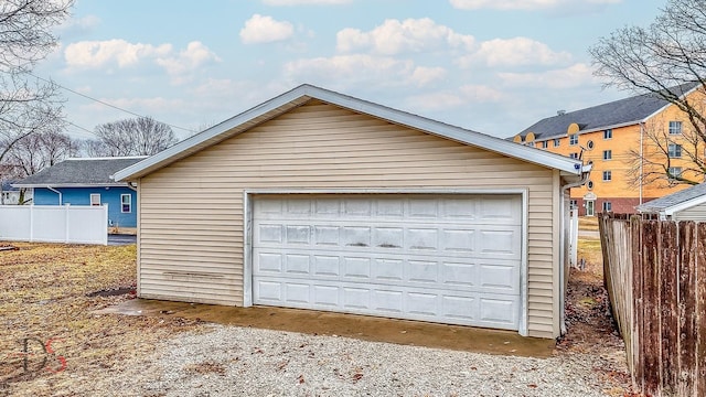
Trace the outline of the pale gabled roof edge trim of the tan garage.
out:
M 126 181 L 147 175 L 167 167 L 180 159 L 189 157 L 200 150 L 211 147 L 225 139 L 244 132 L 259 124 L 299 107 L 311 99 L 335 105 L 352 111 L 366 114 L 389 122 L 406 126 L 427 133 L 440 136 L 466 144 L 479 147 L 489 151 L 502 153 L 523 161 L 536 163 L 552 169 L 558 169 L 569 175 L 581 175 L 584 169 L 580 161 L 569 159 L 544 150 L 516 144 L 504 139 L 454 127 L 421 116 L 408 114 L 371 101 L 353 98 L 324 88 L 301 85 L 290 92 L 281 94 L 266 103 L 246 110 L 228 120 L 211 127 L 201 133 L 185 139 L 171 148 L 157 153 L 138 164 L 128 167 L 115 174 L 116 181 Z

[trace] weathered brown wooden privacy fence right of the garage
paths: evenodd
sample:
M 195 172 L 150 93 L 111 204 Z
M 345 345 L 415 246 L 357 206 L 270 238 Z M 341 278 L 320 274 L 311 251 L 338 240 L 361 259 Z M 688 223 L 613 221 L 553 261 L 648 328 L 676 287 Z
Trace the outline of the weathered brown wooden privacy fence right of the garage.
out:
M 706 223 L 601 214 L 599 227 L 633 385 L 706 396 Z

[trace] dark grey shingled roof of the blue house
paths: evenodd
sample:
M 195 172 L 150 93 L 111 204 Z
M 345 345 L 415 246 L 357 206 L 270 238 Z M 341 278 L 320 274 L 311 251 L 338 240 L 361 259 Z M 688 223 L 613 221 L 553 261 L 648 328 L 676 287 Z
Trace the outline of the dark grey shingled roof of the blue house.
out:
M 125 182 L 114 181 L 113 174 L 146 158 L 141 155 L 66 159 L 12 185 L 15 187 L 125 185 Z

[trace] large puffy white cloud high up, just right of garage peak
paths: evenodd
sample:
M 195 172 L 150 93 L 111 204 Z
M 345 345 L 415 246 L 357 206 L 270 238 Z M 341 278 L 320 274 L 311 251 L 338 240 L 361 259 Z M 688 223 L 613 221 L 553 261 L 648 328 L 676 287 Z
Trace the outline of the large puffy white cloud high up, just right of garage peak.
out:
M 395 55 L 404 52 L 434 52 L 448 47 L 469 50 L 473 36 L 453 32 L 428 18 L 389 19 L 370 32 L 346 28 L 336 33 L 336 50 L 343 53 L 371 50 L 376 54 Z

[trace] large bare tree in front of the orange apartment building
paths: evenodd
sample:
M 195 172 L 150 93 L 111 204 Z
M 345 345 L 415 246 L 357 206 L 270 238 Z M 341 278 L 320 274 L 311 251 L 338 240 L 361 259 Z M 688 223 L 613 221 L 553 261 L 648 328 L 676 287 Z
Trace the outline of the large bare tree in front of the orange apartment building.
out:
M 686 146 L 693 147 L 691 163 L 681 175 L 668 174 L 668 161 L 655 161 L 664 157 L 671 143 L 668 135 L 651 128 L 648 140 L 650 150 L 638 153 L 642 169 L 653 170 L 638 182 L 646 183 L 661 172 L 672 183 L 697 184 L 706 175 L 704 157 L 698 148 L 706 142 L 706 112 L 702 107 L 706 95 L 706 1 L 668 0 L 660 15 L 648 28 L 627 26 L 600 39 L 589 50 L 597 67 L 596 75 L 605 78 L 606 86 L 651 94 L 678 108 L 688 120 Z M 696 92 L 696 95 L 685 95 Z M 700 95 L 699 95 L 700 94 Z M 673 143 L 673 142 L 672 142 Z M 667 150 L 668 151 L 668 150 Z M 634 154 L 634 153 L 633 153 Z M 667 153 L 668 154 L 668 153 Z

